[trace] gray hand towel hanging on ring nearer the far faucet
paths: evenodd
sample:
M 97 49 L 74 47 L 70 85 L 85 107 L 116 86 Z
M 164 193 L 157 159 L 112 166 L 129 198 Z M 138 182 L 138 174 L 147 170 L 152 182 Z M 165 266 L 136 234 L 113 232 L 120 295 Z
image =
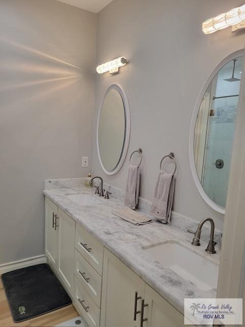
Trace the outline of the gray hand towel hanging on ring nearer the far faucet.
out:
M 135 209 L 139 202 L 139 167 L 129 165 L 124 204 Z

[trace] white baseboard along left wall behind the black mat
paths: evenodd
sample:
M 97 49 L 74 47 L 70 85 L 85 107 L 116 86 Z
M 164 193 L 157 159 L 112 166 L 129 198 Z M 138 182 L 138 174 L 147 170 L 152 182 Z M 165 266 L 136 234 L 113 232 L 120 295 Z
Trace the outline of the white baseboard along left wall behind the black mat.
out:
M 44 263 L 46 263 L 45 254 L 32 256 L 32 258 L 17 260 L 14 262 L 8 262 L 6 264 L 0 265 L 0 275 L 11 270 L 16 270 L 16 269 L 30 267 L 30 266 L 44 264 Z

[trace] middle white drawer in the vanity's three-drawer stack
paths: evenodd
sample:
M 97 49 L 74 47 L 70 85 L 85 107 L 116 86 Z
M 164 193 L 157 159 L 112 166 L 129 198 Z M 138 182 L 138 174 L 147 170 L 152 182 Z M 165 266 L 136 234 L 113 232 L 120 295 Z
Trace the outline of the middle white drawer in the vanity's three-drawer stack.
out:
M 75 275 L 84 286 L 96 305 L 101 307 L 101 276 L 90 266 L 84 257 L 76 250 L 75 252 Z

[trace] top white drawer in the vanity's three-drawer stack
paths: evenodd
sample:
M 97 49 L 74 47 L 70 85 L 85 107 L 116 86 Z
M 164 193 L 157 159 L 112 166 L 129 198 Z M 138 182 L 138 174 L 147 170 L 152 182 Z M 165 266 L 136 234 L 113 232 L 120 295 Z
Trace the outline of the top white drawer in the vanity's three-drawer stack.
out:
M 92 237 L 78 223 L 76 224 L 76 248 L 90 263 L 90 265 L 102 276 L 103 245 Z

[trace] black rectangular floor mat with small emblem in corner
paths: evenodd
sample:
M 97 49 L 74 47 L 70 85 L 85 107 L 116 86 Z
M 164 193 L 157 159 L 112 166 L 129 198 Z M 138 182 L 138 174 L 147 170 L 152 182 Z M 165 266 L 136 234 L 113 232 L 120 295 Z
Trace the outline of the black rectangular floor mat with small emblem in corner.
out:
M 47 264 L 2 274 L 13 320 L 20 322 L 68 306 L 69 295 Z

